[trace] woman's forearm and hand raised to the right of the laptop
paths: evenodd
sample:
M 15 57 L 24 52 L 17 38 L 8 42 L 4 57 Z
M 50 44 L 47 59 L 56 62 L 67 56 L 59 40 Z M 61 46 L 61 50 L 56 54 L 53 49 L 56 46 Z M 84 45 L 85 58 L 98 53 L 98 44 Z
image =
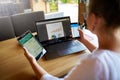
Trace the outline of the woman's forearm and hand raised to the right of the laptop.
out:
M 95 45 L 93 45 L 90 41 L 88 41 L 87 39 L 85 39 L 84 37 L 84 33 L 82 30 L 79 30 L 79 34 L 80 34 L 80 39 L 79 41 L 82 42 L 91 52 L 96 49 L 97 47 Z

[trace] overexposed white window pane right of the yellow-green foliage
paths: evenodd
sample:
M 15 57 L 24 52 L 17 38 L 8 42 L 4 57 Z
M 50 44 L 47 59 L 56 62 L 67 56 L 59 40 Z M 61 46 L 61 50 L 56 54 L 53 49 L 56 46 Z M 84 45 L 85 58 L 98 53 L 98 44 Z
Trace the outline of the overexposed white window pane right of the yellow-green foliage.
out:
M 70 16 L 71 22 L 78 22 L 78 0 L 60 0 L 58 12 L 63 12 L 64 16 Z

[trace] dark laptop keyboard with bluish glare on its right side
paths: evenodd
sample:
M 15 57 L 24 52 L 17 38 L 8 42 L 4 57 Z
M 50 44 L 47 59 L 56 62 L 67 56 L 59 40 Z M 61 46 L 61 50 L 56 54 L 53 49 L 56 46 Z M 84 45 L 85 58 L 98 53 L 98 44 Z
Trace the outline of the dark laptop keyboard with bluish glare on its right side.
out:
M 46 46 L 46 50 L 50 53 L 59 53 L 60 56 L 79 52 L 85 50 L 78 40 L 66 41 L 63 43 L 58 43 L 50 46 Z

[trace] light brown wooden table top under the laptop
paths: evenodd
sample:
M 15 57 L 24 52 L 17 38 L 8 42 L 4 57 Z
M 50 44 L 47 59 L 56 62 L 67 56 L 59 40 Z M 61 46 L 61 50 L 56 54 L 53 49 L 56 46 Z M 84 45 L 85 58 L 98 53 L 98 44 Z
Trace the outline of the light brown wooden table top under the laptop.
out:
M 86 55 L 82 53 L 85 51 L 48 61 L 42 58 L 38 63 L 48 73 L 59 77 L 69 72 L 79 61 L 80 54 Z M 24 50 L 15 38 L 0 42 L 0 80 L 36 80 Z

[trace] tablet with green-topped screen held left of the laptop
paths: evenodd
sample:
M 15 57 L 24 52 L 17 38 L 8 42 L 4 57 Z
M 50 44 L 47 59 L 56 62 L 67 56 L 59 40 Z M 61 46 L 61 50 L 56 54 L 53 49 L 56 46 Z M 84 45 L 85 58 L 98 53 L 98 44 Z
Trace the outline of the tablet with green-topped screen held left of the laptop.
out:
M 46 53 L 46 50 L 32 35 L 30 30 L 23 33 L 20 37 L 17 38 L 17 40 L 22 47 L 25 47 L 28 52 L 36 58 L 36 60 L 41 58 Z

